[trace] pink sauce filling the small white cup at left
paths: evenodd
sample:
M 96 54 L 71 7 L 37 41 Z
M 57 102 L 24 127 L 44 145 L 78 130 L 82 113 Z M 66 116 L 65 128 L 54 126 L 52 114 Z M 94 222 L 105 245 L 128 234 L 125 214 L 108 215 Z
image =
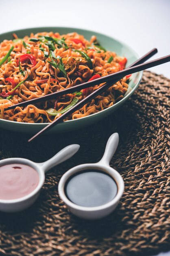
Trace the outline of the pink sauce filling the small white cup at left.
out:
M 24 164 L 0 166 L 0 199 L 17 199 L 31 193 L 38 185 L 35 169 Z

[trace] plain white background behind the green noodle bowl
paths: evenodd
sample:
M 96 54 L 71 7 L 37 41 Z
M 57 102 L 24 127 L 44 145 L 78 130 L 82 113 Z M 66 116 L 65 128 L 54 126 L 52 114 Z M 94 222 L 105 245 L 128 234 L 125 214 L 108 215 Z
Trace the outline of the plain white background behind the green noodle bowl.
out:
M 170 54 L 170 0 L 0 0 L 0 33 L 54 26 L 113 36 L 139 56 L 154 47 L 153 58 Z M 170 63 L 151 71 L 170 78 Z

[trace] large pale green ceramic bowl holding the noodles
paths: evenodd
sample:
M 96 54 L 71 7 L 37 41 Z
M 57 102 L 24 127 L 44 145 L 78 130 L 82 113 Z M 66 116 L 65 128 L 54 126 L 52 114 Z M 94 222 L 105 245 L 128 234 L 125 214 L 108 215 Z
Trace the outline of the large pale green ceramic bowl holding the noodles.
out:
M 70 28 L 70 27 L 37 27 L 37 28 L 10 31 L 4 34 L 0 34 L 0 42 L 2 42 L 4 39 L 8 39 L 8 40 L 13 39 L 13 36 L 12 36 L 13 33 L 16 33 L 19 38 L 23 38 L 24 36 L 29 35 L 31 32 L 35 34 L 37 32 L 43 32 L 43 31 L 59 32 L 60 34 L 67 34 L 75 31 L 78 34 L 82 34 L 83 36 L 85 36 L 87 40 L 89 40 L 91 36 L 95 35 L 98 41 L 100 42 L 100 44 L 103 47 L 105 47 L 107 50 L 116 52 L 116 54 L 120 56 L 125 56 L 128 59 L 127 66 L 139 58 L 138 55 L 133 51 L 133 49 L 131 49 L 126 44 L 114 38 L 111 38 L 104 34 L 97 33 L 95 31 Z M 115 111 L 117 108 L 122 106 L 122 104 L 124 104 L 124 102 L 133 94 L 133 92 L 138 87 L 141 79 L 142 79 L 142 72 L 137 72 L 133 74 L 131 76 L 131 81 L 129 82 L 129 90 L 126 92 L 124 98 L 120 100 L 118 103 L 116 103 L 115 105 L 111 106 L 110 108 L 102 110 L 93 115 L 89 115 L 87 117 L 65 121 L 61 124 L 58 124 L 54 128 L 52 128 L 49 132 L 51 133 L 68 132 L 73 129 L 75 130 L 75 129 L 93 124 L 94 122 L 101 120 L 107 115 L 110 115 L 113 111 Z M 41 130 L 42 128 L 44 128 L 45 126 L 47 126 L 47 124 L 29 124 L 29 123 L 20 123 L 20 122 L 0 119 L 0 126 L 7 130 L 12 130 L 17 132 L 20 131 L 20 132 L 26 132 L 26 133 L 35 133 Z

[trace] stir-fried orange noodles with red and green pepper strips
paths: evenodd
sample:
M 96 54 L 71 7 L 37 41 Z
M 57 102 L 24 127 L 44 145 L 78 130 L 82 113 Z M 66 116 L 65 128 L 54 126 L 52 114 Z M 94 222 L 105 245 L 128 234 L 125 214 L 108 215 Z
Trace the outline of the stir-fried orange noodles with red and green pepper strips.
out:
M 104 49 L 96 36 L 90 41 L 70 33 L 37 33 L 0 43 L 0 118 L 26 123 L 47 123 L 87 97 L 99 84 L 80 92 L 7 110 L 11 105 L 118 72 L 127 59 Z M 112 85 L 66 120 L 92 115 L 124 97 L 129 76 Z

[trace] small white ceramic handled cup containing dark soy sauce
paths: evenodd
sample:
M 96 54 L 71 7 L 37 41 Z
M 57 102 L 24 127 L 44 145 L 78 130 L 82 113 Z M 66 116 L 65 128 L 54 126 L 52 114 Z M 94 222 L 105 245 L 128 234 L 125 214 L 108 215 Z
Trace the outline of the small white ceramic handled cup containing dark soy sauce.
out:
M 122 176 L 115 169 L 109 166 L 111 157 L 115 153 L 116 148 L 118 146 L 118 141 L 119 141 L 118 133 L 113 133 L 113 135 L 111 135 L 111 137 L 107 142 L 105 153 L 102 159 L 98 163 L 81 164 L 81 165 L 75 166 L 71 168 L 69 171 L 67 171 L 61 177 L 61 180 L 59 181 L 59 186 L 58 186 L 60 198 L 65 202 L 65 204 L 68 206 L 68 209 L 70 209 L 70 211 L 74 215 L 80 218 L 90 219 L 90 220 L 99 219 L 110 214 L 118 205 L 118 202 L 124 191 L 124 181 L 122 179 Z M 74 204 L 67 198 L 67 196 L 65 195 L 65 184 L 67 180 L 72 175 L 79 173 L 82 170 L 88 170 L 88 169 L 95 169 L 95 170 L 97 169 L 97 170 L 103 171 L 109 174 L 113 178 L 113 180 L 115 180 L 118 187 L 118 192 L 116 196 L 113 198 L 113 200 L 111 200 L 107 204 L 103 204 L 98 207 L 83 207 L 83 206 Z

